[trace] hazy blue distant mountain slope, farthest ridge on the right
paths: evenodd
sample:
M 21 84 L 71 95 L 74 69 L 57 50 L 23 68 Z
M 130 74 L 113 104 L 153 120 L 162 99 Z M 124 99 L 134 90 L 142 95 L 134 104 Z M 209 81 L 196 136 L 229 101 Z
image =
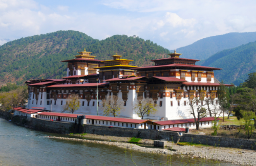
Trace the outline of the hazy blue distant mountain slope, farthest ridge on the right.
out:
M 176 51 L 183 54 L 181 57 L 203 60 L 222 50 L 235 48 L 254 41 L 256 41 L 256 32 L 227 33 L 203 38 Z

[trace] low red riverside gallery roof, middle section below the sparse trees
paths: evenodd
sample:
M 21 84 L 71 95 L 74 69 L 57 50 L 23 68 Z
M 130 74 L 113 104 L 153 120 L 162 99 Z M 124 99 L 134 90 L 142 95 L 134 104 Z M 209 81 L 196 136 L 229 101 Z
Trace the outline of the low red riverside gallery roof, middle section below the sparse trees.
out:
M 135 123 L 141 124 L 148 120 L 136 120 L 133 118 L 122 118 L 122 117 L 109 117 L 109 116 L 96 116 L 96 115 L 86 115 L 86 118 L 91 120 L 102 120 L 102 121 L 113 121 L 113 122 L 124 122 L 124 123 Z

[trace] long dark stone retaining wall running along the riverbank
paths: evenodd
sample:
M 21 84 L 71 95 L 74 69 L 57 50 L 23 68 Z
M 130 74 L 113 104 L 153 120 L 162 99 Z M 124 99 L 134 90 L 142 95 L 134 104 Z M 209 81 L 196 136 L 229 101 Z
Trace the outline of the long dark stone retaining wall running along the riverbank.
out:
M 0 110 L 0 116 L 4 118 L 11 118 L 12 115 L 8 112 Z M 17 117 L 17 118 L 16 118 Z M 183 134 L 180 136 L 178 132 L 157 131 L 147 129 L 130 129 L 121 127 L 98 126 L 98 125 L 77 125 L 67 122 L 56 122 L 41 120 L 39 118 L 31 118 L 31 121 L 26 121 L 23 124 L 21 121 L 23 118 L 20 116 L 14 116 L 13 120 L 17 119 L 19 122 L 14 123 L 18 125 L 26 125 L 38 131 L 69 134 L 69 133 L 90 133 L 98 135 L 111 135 L 111 136 L 124 136 L 124 137 L 140 137 L 144 139 L 165 139 L 169 141 L 180 141 L 186 143 L 196 143 L 203 145 L 210 145 L 216 147 L 228 147 L 228 148 L 240 148 L 256 150 L 256 140 L 254 139 L 241 139 L 241 138 L 229 138 L 219 136 L 208 135 L 196 135 L 196 134 Z

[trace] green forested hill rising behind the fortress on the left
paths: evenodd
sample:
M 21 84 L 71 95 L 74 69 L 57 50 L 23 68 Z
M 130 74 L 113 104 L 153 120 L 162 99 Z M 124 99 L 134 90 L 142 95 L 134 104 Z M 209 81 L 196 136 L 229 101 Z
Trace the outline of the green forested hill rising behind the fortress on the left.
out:
M 134 60 L 133 65 L 146 65 L 151 59 L 167 57 L 169 51 L 150 40 L 115 35 L 97 40 L 77 31 L 57 31 L 7 42 L 0 46 L 0 85 L 23 84 L 26 80 L 66 76 L 67 63 L 86 48 L 96 59 L 111 59 L 118 53 Z

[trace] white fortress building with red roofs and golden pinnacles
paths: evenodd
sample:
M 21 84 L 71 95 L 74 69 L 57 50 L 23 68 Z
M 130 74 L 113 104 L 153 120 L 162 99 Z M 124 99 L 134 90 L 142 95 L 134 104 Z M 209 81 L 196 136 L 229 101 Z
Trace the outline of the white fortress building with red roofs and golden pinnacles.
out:
M 152 60 L 155 65 L 147 67 L 131 66 L 132 60 L 121 59 L 120 55 L 101 61 L 90 54 L 84 49 L 75 59 L 61 61 L 68 63 L 67 77 L 26 81 L 27 108 L 62 112 L 68 96 L 78 94 L 80 108 L 74 113 L 96 115 L 102 99 L 118 96 L 124 105 L 119 116 L 140 118 L 133 104 L 136 98 L 143 97 L 152 98 L 159 106 L 157 113 L 144 118 L 179 120 L 193 118 L 187 103 L 196 97 L 210 98 L 213 105 L 218 105 L 216 93 L 220 84 L 214 81 L 214 70 L 221 68 L 196 65 L 199 60 L 180 58 L 176 51 L 169 58 Z M 103 110 L 99 109 L 99 115 L 103 115 Z

